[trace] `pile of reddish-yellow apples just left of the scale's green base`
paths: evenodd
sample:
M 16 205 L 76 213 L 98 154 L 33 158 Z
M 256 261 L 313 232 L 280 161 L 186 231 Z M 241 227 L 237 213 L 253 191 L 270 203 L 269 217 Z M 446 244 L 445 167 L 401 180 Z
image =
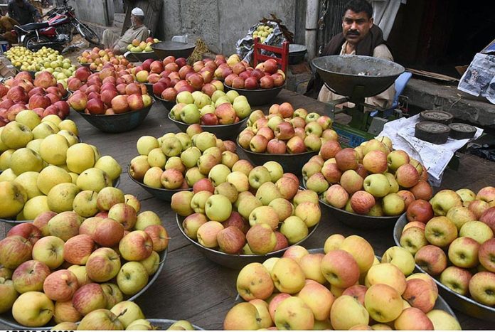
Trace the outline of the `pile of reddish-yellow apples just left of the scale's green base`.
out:
M 302 154 L 319 151 L 325 141 L 338 139 L 326 115 L 308 113 L 304 108 L 294 111 L 289 102 L 272 105 L 269 113 L 251 113 L 248 127 L 238 136 L 243 149 L 260 154 Z

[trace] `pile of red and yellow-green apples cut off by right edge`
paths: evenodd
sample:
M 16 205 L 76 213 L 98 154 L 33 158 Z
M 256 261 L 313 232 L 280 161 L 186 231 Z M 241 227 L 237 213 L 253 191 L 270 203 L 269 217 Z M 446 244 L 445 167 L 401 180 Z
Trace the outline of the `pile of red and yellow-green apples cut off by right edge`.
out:
M 408 207 L 400 245 L 452 291 L 495 306 L 495 188 L 442 190 Z

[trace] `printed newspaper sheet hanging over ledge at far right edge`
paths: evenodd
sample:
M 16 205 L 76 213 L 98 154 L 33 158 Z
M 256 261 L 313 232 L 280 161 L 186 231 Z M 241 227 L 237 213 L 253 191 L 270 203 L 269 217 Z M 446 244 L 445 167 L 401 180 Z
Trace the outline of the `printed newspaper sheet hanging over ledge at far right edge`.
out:
M 457 89 L 486 97 L 495 104 L 495 55 L 477 53 L 459 81 Z

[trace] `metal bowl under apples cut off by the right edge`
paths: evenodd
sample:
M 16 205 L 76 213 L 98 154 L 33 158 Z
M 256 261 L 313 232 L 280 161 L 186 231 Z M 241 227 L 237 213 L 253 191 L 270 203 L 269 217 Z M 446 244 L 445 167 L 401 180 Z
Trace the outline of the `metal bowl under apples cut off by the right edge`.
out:
M 395 227 L 393 227 L 393 240 L 395 241 L 395 245 L 400 247 L 400 235 L 402 235 L 404 226 L 408 223 L 408 219 L 405 215 L 402 215 L 397 223 L 395 223 Z M 416 269 L 420 270 L 420 272 L 425 272 L 419 265 L 416 264 Z M 437 283 L 438 293 L 442 295 L 442 297 L 447 300 L 447 303 L 451 305 L 454 309 L 461 311 L 468 316 L 472 316 L 475 318 L 483 319 L 484 321 L 493 321 L 495 322 L 495 308 L 492 306 L 486 306 L 485 304 L 481 304 L 474 299 L 471 299 L 467 296 L 457 294 L 449 287 L 442 284 L 439 280 L 432 277 L 433 280 Z

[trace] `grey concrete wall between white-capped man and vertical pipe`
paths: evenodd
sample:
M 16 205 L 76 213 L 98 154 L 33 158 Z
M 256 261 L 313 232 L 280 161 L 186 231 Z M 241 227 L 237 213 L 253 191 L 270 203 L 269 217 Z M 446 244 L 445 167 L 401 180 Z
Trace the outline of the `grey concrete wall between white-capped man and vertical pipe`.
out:
M 304 1 L 305 2 L 305 1 Z M 164 0 L 158 38 L 170 40 L 172 36 L 188 34 L 189 41 L 201 37 L 215 53 L 235 53 L 235 43 L 243 38 L 250 26 L 270 13 L 282 19 L 289 31 L 302 26 L 294 0 Z M 300 7 L 300 6 L 299 6 Z M 300 39 L 301 35 L 296 36 Z M 303 32 L 304 36 L 304 32 Z

